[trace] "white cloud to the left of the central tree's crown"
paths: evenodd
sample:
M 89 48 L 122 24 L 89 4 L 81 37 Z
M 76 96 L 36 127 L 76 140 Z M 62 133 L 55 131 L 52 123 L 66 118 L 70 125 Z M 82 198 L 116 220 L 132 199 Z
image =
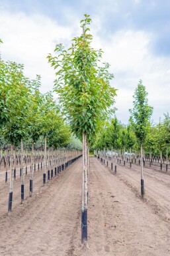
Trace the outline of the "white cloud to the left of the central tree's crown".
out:
M 72 38 L 73 27 L 62 27 L 41 15 L 26 16 L 23 13 L 0 15 L 3 39 L 3 59 L 24 64 L 26 76 L 42 76 L 42 91 L 52 90 L 54 70 L 46 59 L 54 53 L 56 43 L 67 43 Z

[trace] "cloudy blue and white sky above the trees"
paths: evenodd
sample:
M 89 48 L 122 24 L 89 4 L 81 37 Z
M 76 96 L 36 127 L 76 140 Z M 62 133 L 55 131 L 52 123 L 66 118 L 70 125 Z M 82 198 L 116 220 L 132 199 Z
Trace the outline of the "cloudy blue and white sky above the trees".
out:
M 153 106 L 153 122 L 170 112 L 170 1 L 165 0 L 0 0 L 1 58 L 24 64 L 30 79 L 42 77 L 42 92 L 53 90 L 48 63 L 56 44 L 69 47 L 91 16 L 93 47 L 114 74 L 117 118 L 128 123 L 133 95 L 142 79 Z

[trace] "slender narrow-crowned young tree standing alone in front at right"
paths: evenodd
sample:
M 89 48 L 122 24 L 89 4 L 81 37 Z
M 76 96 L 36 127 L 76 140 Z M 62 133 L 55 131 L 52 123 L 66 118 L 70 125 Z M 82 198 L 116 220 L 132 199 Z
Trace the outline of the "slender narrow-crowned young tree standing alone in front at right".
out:
M 140 144 L 141 151 L 141 195 L 144 197 L 144 167 L 143 167 L 143 146 L 149 129 L 149 120 L 153 108 L 148 105 L 148 92 L 140 80 L 134 92 L 134 107 L 130 109 L 130 123 L 134 128 L 136 138 Z

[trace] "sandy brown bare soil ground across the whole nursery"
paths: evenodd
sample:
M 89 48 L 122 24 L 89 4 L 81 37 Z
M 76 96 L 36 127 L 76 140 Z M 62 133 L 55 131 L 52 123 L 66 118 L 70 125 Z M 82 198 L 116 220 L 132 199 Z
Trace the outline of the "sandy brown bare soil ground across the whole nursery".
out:
M 14 182 L 13 211 L 7 215 L 1 181 L 0 255 L 146 256 L 170 253 L 169 172 L 144 168 L 144 199 L 140 196 L 140 166 L 117 165 L 113 175 L 90 158 L 88 245 L 81 245 L 82 158 L 46 186 L 34 173 L 34 194 L 20 198 L 20 177 Z M 25 179 L 25 187 L 26 182 Z M 6 188 L 7 187 L 7 188 Z M 26 192 L 25 192 L 26 193 Z M 19 199 L 18 198 L 18 199 Z M 19 200 L 18 200 L 19 201 Z

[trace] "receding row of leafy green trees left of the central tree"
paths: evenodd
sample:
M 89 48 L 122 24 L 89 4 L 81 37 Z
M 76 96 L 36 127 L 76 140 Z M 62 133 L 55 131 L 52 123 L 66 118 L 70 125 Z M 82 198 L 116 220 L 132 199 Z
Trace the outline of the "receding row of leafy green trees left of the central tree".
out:
M 2 43 L 2 41 L 0 42 Z M 60 112 L 52 92 L 40 93 L 40 76 L 34 80 L 24 76 L 24 66 L 0 60 L 0 144 L 10 144 L 11 174 L 9 211 L 13 201 L 13 149 L 21 146 L 21 193 L 24 190 L 23 142 L 31 142 L 33 163 L 34 144 L 44 139 L 44 162 L 47 146 L 54 149 L 67 146 L 71 129 Z M 73 138 L 72 138 L 73 141 Z M 71 144 L 69 144 L 71 146 Z M 31 164 L 32 166 L 32 164 Z M 46 183 L 46 172 L 43 174 Z M 30 171 L 30 195 L 33 192 L 33 168 Z

